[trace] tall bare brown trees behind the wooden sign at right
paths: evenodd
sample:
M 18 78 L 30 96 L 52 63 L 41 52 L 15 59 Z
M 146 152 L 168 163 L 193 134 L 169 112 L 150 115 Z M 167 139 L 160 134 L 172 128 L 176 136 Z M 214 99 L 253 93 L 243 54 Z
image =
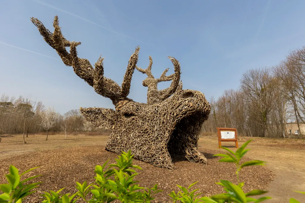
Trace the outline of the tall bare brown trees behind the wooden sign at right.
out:
M 273 67 L 250 69 L 237 90 L 225 90 L 209 99 L 211 113 L 204 132 L 216 127 L 237 128 L 249 137 L 290 137 L 286 122 L 296 121 L 299 137 L 305 121 L 305 47 L 289 52 Z

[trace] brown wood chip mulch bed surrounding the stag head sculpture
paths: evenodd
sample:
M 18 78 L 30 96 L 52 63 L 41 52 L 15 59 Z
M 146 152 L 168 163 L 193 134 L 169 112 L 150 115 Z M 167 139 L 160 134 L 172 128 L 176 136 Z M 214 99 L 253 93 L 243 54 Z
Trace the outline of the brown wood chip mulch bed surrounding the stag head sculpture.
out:
M 224 192 L 222 187 L 215 184 L 219 180 L 230 180 L 236 182 L 235 165 L 232 163 L 218 162 L 220 157 L 213 157 L 213 154 L 219 153 L 210 149 L 201 151 L 208 159 L 208 164 L 197 164 L 188 162 L 184 158 L 174 157 L 173 161 L 177 169 L 168 170 L 154 167 L 148 163 L 134 159 L 134 164 L 142 167 L 138 170 L 139 175 L 136 180 L 140 181 L 142 187 L 152 187 L 158 183 L 162 193 L 156 195 L 155 202 L 170 202 L 167 195 L 171 191 L 178 192 L 177 184 L 187 187 L 191 183 L 198 181 L 193 187 L 200 188 L 200 192 L 204 192 L 205 196 Z M 16 166 L 20 172 L 32 167 L 40 166 L 40 168 L 31 171 L 24 178 L 33 175 L 43 175 L 36 181 L 43 181 L 37 188 L 38 192 L 32 194 L 24 202 L 40 202 L 39 194 L 42 191 L 57 191 L 62 187 L 66 187 L 64 193 L 76 192 L 75 181 L 83 183 L 94 182 L 95 165 L 102 165 L 106 160 L 114 163 L 117 154 L 108 152 L 103 146 L 85 146 L 73 147 L 57 150 L 48 150 L 41 152 L 32 152 L 20 156 L 6 158 L 1 160 L 0 167 L 0 184 L 7 183 L 5 174 L 8 173 L 10 165 Z M 249 160 L 244 158 L 243 161 Z M 266 166 L 250 166 L 245 167 L 240 172 L 240 180 L 245 182 L 244 191 L 248 192 L 253 189 L 267 190 L 268 184 L 274 179 L 274 173 Z

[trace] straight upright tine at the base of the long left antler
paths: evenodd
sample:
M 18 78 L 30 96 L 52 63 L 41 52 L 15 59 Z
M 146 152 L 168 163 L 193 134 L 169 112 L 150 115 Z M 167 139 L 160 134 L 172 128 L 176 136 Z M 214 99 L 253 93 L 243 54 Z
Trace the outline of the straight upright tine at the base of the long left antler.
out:
M 130 56 L 130 59 L 128 61 L 126 73 L 124 75 L 124 79 L 121 85 L 122 86 L 121 97 L 123 98 L 127 97 L 127 95 L 129 94 L 131 78 L 132 78 L 132 74 L 135 71 L 135 68 L 137 67 L 139 51 L 140 51 L 140 47 L 137 47 L 135 49 L 135 52 Z

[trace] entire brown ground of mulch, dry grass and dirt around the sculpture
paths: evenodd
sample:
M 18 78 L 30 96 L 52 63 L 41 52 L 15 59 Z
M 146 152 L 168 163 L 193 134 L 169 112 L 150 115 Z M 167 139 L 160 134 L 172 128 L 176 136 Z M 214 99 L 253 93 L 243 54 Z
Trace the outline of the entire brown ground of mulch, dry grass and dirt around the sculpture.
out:
M 94 166 L 106 160 L 114 162 L 117 154 L 107 152 L 104 144 L 107 136 L 79 135 L 77 141 L 74 136 L 50 135 L 45 141 L 43 135 L 29 135 L 27 144 L 23 144 L 22 136 L 4 137 L 0 143 L 0 183 L 6 183 L 4 175 L 8 173 L 10 164 L 20 171 L 31 167 L 41 166 L 32 171 L 30 175 L 42 174 L 40 181 L 43 183 L 38 188 L 40 191 L 58 190 L 66 187 L 64 192 L 75 192 L 75 181 L 94 181 Z M 247 138 L 239 141 L 241 145 Z M 220 179 L 236 182 L 234 165 L 220 163 L 219 157 L 213 154 L 224 153 L 219 149 L 215 137 L 202 137 L 199 139 L 199 150 L 208 158 L 208 164 L 191 163 L 181 157 L 173 158 L 177 167 L 174 170 L 160 169 L 148 163 L 134 160 L 143 170 L 139 171 L 137 180 L 141 186 L 152 187 L 158 183 L 163 192 L 156 196 L 156 202 L 168 202 L 168 193 L 178 191 L 176 184 L 188 186 L 198 181 L 194 186 L 200 188 L 204 195 L 223 192 L 215 184 Z M 235 150 L 234 143 L 223 143 L 224 146 Z M 242 169 L 240 178 L 245 181 L 244 189 L 268 190 L 267 195 L 273 199 L 265 202 L 289 202 L 289 198 L 296 198 L 305 202 L 305 195 L 292 190 L 305 191 L 305 141 L 295 139 L 267 139 L 254 138 L 249 144 L 251 150 L 246 155 L 251 159 L 267 161 L 267 167 L 254 166 Z M 245 158 L 246 161 L 248 158 Z M 271 182 L 272 181 L 272 182 Z M 271 182 L 271 183 L 270 183 Z M 26 202 L 37 202 L 39 196 L 27 199 Z

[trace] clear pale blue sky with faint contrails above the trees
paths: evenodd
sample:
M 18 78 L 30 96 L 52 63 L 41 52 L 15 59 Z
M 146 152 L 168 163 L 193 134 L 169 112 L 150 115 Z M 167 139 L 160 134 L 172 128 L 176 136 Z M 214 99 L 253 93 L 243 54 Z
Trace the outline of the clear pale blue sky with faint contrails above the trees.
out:
M 105 76 L 118 84 L 139 45 L 138 66 L 146 68 L 151 55 L 155 77 L 167 67 L 171 74 L 166 57 L 173 56 L 181 63 L 184 89 L 217 98 L 238 88 L 247 69 L 276 65 L 305 45 L 304 7 L 301 0 L 1 0 L 0 94 L 31 94 L 61 113 L 80 106 L 113 108 L 63 64 L 30 17 L 52 31 L 58 15 L 66 39 L 81 41 L 79 57 L 94 64 L 102 54 Z M 129 98 L 146 102 L 145 77 L 135 71 Z

